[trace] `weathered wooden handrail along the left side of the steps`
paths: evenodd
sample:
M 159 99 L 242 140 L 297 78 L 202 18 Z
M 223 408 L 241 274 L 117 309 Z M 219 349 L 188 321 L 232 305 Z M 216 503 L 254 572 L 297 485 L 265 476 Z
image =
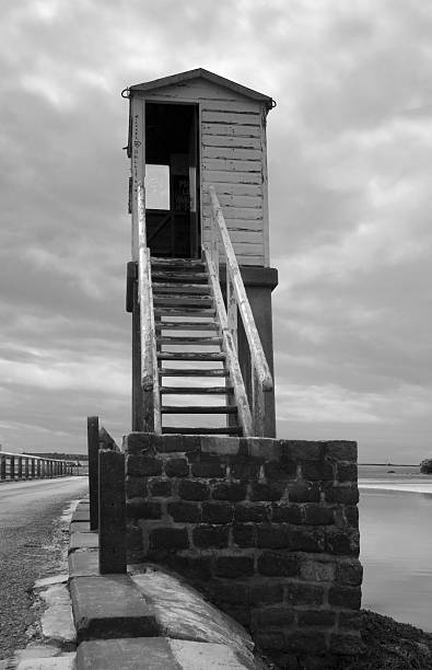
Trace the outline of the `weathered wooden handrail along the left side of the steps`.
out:
M 137 198 L 138 297 L 140 305 L 140 371 L 143 403 L 143 430 L 149 432 L 162 432 L 150 250 L 147 246 L 144 189 L 141 183 L 138 184 Z

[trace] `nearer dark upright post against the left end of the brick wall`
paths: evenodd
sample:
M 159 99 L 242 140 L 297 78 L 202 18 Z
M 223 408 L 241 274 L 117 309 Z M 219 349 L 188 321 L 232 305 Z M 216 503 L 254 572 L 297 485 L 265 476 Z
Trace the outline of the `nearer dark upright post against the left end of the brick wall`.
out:
M 98 452 L 100 573 L 126 574 L 125 454 Z

